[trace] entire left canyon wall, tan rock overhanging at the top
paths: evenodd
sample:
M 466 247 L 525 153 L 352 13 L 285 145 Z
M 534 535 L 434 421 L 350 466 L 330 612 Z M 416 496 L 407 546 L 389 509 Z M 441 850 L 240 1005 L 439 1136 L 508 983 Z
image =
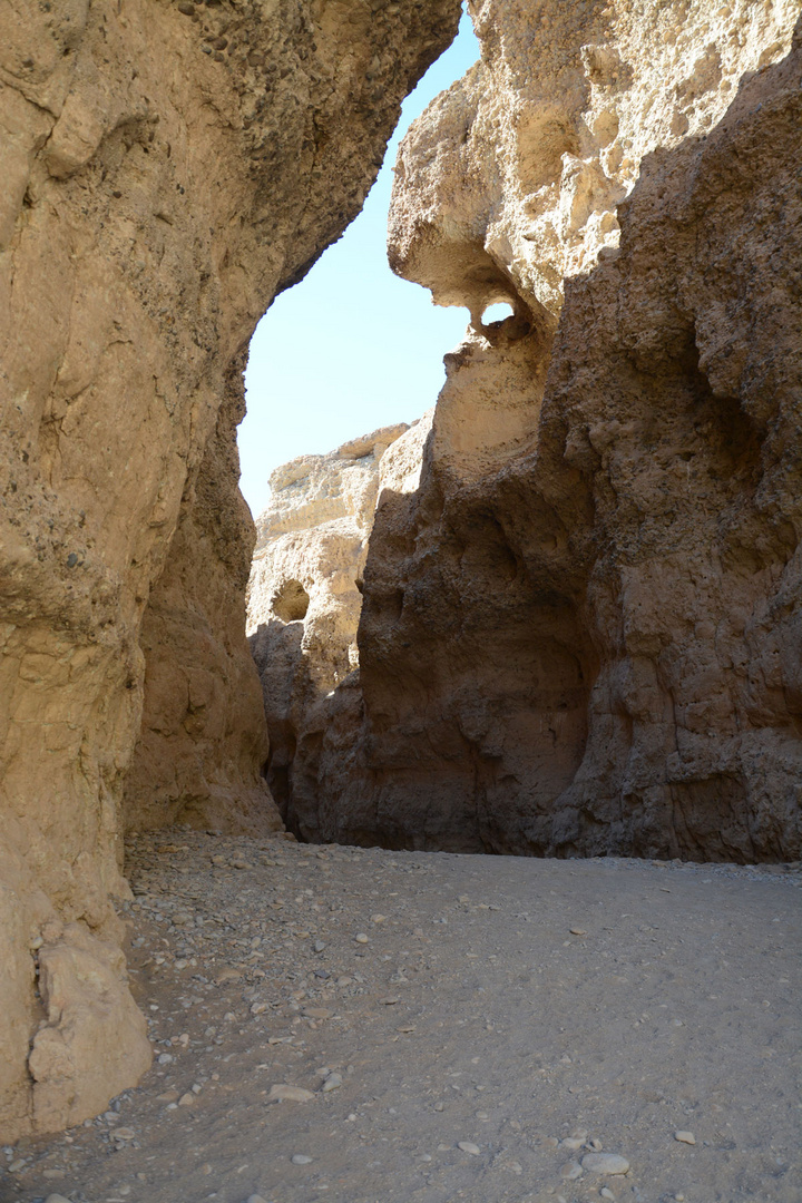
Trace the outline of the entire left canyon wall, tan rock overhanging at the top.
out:
M 109 903 L 126 890 L 143 698 L 129 823 L 277 823 L 242 632 L 243 352 L 358 212 L 458 14 L 457 0 L 4 7 L 6 1140 L 97 1112 L 150 1060 Z

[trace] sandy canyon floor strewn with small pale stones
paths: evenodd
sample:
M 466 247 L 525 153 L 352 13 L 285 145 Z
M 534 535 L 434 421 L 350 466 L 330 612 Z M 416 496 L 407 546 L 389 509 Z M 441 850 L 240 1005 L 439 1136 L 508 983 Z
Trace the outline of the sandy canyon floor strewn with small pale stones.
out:
M 156 1059 L 4 1203 L 802 1199 L 798 865 L 173 830 L 127 870 Z

